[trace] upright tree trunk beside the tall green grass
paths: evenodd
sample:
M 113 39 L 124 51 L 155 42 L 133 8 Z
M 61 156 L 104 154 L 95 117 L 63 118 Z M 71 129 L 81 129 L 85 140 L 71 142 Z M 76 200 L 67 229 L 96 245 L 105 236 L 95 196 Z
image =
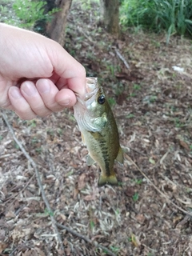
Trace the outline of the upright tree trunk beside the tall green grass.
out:
M 119 35 L 119 1 L 100 0 L 102 22 L 110 34 Z

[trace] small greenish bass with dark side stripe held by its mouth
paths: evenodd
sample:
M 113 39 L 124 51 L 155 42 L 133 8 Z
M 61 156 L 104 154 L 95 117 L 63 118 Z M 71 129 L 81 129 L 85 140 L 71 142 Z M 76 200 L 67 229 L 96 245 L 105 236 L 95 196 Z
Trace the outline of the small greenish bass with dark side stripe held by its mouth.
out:
M 114 114 L 98 78 L 86 78 L 86 94 L 76 96 L 74 118 L 89 152 L 86 163 L 88 166 L 98 163 L 101 170 L 98 186 L 118 186 L 114 161 L 123 164 L 123 151 Z

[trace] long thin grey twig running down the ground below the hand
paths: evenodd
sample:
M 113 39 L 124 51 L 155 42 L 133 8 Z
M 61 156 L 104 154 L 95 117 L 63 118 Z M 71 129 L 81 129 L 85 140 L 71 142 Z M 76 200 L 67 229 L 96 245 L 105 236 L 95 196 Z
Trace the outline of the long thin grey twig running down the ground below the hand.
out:
M 30 155 L 26 152 L 25 148 L 22 146 L 22 143 L 18 141 L 18 138 L 16 138 L 15 134 L 14 134 L 14 130 L 12 128 L 12 126 L 10 126 L 10 123 L 8 122 L 7 120 L 7 117 L 6 117 L 6 114 L 5 112 L 2 110 L 2 118 L 4 119 L 4 121 L 6 122 L 6 126 L 8 126 L 9 130 L 10 130 L 10 133 L 12 134 L 13 138 L 14 138 L 14 141 L 18 144 L 20 150 L 22 150 L 22 153 L 25 155 L 25 157 L 29 160 L 31 166 L 34 167 L 34 171 L 35 171 L 35 175 L 36 175 L 36 178 L 37 178 L 37 181 L 38 181 L 38 186 L 39 186 L 39 189 L 41 190 L 41 193 L 42 193 L 42 199 L 43 201 L 45 202 L 46 204 L 46 208 L 47 210 L 51 213 L 52 210 L 50 208 L 50 204 L 49 202 L 47 201 L 46 199 L 46 194 L 45 194 L 45 191 L 42 187 L 42 182 L 41 182 L 41 178 L 40 178 L 40 175 L 39 175 L 39 172 L 38 172 L 38 167 L 36 165 L 36 163 L 34 162 L 34 160 L 30 157 Z M 57 234 L 57 238 L 58 238 L 58 243 L 60 244 L 61 246 L 61 249 L 63 250 L 63 255 L 66 255 L 65 254 L 65 250 L 64 250 L 64 246 L 62 244 L 62 238 L 58 232 L 58 227 L 56 225 L 56 221 L 54 219 L 53 216 L 51 216 L 50 214 L 50 219 L 51 219 L 51 222 L 52 222 L 52 226 L 54 227 L 54 232 Z

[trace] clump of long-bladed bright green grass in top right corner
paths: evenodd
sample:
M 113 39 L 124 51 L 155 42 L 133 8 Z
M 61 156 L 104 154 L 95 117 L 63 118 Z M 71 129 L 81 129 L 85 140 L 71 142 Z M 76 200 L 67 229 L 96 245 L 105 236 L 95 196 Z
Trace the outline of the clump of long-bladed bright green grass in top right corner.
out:
M 171 34 L 192 35 L 192 0 L 124 0 L 120 14 L 122 26 L 166 30 L 167 43 Z

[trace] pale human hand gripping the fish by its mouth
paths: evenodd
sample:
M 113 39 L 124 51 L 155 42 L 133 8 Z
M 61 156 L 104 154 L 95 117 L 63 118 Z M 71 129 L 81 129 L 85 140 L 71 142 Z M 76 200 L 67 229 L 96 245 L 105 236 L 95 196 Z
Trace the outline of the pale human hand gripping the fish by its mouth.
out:
M 57 42 L 0 23 L 0 107 L 22 119 L 74 106 L 86 71 Z

